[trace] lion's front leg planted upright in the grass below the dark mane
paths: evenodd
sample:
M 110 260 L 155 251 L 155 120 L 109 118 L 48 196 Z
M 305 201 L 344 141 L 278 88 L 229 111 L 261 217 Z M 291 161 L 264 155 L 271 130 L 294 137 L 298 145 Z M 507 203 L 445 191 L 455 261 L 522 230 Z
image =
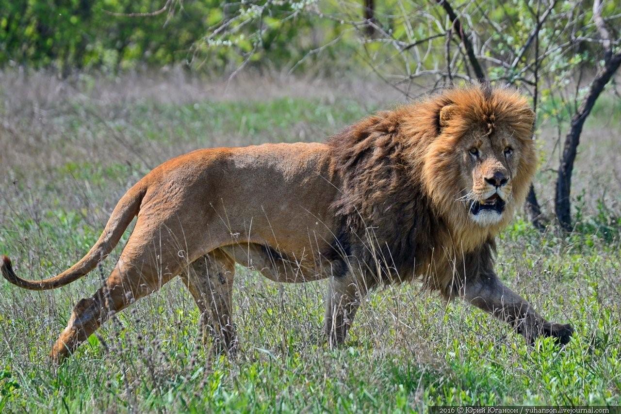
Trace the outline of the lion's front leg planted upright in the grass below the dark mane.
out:
M 356 310 L 369 290 L 364 279 L 350 273 L 330 277 L 325 301 L 325 334 L 328 346 L 335 348 L 345 341 Z

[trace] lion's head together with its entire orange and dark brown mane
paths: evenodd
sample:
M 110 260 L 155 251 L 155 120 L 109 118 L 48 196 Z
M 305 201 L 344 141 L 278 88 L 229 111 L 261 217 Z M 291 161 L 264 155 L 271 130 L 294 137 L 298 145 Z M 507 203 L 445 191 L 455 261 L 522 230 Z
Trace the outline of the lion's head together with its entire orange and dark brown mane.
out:
M 333 212 L 350 240 L 365 240 L 352 254 L 371 263 L 381 250 L 401 271 L 426 266 L 438 249 L 483 246 L 526 197 L 537 165 L 533 121 L 517 91 L 477 84 L 330 138 L 341 194 Z

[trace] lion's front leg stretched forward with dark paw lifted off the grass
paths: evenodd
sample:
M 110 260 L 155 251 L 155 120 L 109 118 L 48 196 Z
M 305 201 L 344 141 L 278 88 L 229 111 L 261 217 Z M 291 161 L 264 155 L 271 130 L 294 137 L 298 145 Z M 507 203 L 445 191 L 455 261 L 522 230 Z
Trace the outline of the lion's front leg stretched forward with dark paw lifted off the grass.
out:
M 571 325 L 546 321 L 526 300 L 504 286 L 496 274 L 466 279 L 464 285 L 461 290 L 468 302 L 514 326 L 529 344 L 541 335 L 553 336 L 561 345 L 569 342 L 573 333 Z

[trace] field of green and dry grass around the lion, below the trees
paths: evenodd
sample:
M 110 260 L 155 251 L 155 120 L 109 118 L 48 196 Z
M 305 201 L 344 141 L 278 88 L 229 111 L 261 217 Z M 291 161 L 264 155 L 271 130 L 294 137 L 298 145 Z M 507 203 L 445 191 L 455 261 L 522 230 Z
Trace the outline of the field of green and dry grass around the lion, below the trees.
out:
M 304 79 L 205 83 L 183 76 L 0 74 L 0 253 L 22 277 L 68 268 L 123 192 L 194 148 L 323 140 L 399 97 L 381 85 Z M 238 268 L 241 351 L 201 344 L 178 279 L 106 323 L 63 366 L 47 359 L 71 308 L 114 266 L 29 292 L 0 281 L 0 411 L 409 411 L 444 404 L 621 404 L 621 107 L 605 96 L 582 137 L 571 236 L 516 217 L 497 271 L 574 339 L 528 348 L 503 323 L 409 285 L 370 295 L 347 344 L 320 341 L 325 281 L 275 284 Z M 550 209 L 556 125 L 540 133 L 540 201 Z M 128 232 L 129 233 L 129 232 Z M 127 234 L 125 235 L 125 237 Z M 120 244 L 122 245 L 122 243 Z M 118 254 L 120 248 L 115 250 Z

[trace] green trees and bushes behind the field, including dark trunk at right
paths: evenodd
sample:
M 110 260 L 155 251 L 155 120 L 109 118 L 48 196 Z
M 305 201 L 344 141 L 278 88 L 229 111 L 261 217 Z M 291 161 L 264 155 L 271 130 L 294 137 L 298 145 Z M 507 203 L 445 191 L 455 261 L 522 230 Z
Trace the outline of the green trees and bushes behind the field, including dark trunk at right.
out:
M 7 2 L 0 65 L 71 71 L 181 64 L 342 76 L 371 71 L 406 97 L 455 81 L 517 86 L 555 117 L 554 217 L 573 230 L 571 184 L 584 120 L 621 66 L 621 13 L 602 0 L 118 0 Z M 363 71 L 360 68 L 364 68 Z M 563 130 L 563 115 L 569 114 Z M 564 140 L 562 135 L 565 134 Z M 542 230 L 537 193 L 526 209 Z

